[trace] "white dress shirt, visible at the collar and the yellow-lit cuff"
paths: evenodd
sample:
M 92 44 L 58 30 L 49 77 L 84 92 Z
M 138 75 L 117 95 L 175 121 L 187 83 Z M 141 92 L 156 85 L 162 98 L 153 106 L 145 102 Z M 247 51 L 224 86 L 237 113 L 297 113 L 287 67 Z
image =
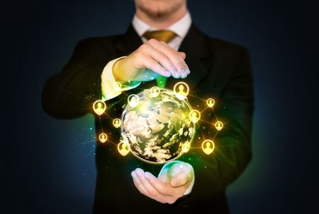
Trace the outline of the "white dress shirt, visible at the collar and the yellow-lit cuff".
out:
M 148 30 L 159 30 L 157 28 L 152 28 L 150 25 L 147 25 L 147 23 L 140 20 L 136 15 L 133 18 L 132 21 L 133 28 L 136 32 L 138 32 L 138 35 L 140 36 L 142 42 L 146 42 L 147 39 L 143 37 L 142 35 L 148 31 Z M 189 12 L 185 14 L 180 20 L 178 20 L 176 23 L 170 25 L 165 30 L 172 30 L 177 34 L 174 39 L 172 39 L 169 44 L 174 49 L 179 49 L 179 46 L 181 46 L 181 42 L 184 40 L 184 37 L 186 36 L 187 32 L 189 31 L 189 28 L 191 27 L 191 15 Z M 125 56 L 123 56 L 125 57 Z M 114 97 L 117 97 L 118 95 L 121 95 L 122 91 L 130 90 L 132 88 L 138 87 L 140 83 L 130 86 L 130 87 L 123 87 L 121 90 L 114 90 L 114 83 L 116 83 L 114 77 L 113 77 L 113 64 L 116 63 L 119 59 L 122 59 L 123 57 L 119 57 L 117 59 L 113 59 L 112 61 L 109 61 L 108 64 L 103 69 L 102 75 L 101 75 L 101 89 L 102 89 L 102 100 L 111 100 Z

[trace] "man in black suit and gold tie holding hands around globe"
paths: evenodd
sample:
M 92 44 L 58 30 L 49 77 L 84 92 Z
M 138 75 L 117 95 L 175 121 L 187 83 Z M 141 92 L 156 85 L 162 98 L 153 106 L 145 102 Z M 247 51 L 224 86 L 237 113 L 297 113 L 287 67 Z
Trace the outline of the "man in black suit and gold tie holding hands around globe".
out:
M 253 81 L 247 49 L 201 32 L 186 0 L 135 0 L 135 8 L 123 35 L 77 44 L 62 71 L 45 83 L 43 109 L 52 117 L 72 119 L 91 113 L 92 103 L 102 99 L 108 115 L 118 118 L 126 95 L 154 85 L 172 89 L 181 80 L 193 95 L 214 97 L 225 127 L 214 139 L 212 155 L 186 153 L 162 168 L 132 155 L 120 157 L 111 143 L 97 142 L 94 213 L 228 213 L 225 189 L 252 155 Z M 121 83 L 121 90 L 114 90 L 114 83 Z M 198 105 L 198 100 L 189 101 Z M 107 117 L 101 117 L 101 124 L 96 118 L 97 135 L 101 127 L 111 141 L 119 141 L 120 133 Z M 197 129 L 197 145 L 216 134 L 212 127 Z

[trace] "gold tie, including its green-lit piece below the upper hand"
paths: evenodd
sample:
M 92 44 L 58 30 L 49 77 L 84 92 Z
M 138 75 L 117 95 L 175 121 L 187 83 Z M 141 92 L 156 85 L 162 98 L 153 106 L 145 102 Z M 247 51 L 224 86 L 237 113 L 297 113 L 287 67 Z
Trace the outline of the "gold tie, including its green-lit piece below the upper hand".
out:
M 176 33 L 172 30 L 153 30 L 153 31 L 147 31 L 143 34 L 143 37 L 145 37 L 147 40 L 155 39 L 158 41 L 163 42 L 169 42 L 174 37 L 176 37 Z M 157 86 L 159 88 L 165 88 L 167 78 L 164 76 L 159 76 L 159 78 L 156 79 Z

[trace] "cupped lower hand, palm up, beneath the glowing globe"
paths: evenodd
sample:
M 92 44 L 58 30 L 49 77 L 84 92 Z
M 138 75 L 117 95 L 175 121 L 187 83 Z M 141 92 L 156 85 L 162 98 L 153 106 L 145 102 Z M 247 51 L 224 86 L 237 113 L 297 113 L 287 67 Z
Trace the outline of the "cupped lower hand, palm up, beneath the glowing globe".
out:
M 133 182 L 141 194 L 160 203 L 174 203 L 184 196 L 194 179 L 194 170 L 186 162 L 169 162 L 164 165 L 159 177 L 137 168 L 131 173 Z

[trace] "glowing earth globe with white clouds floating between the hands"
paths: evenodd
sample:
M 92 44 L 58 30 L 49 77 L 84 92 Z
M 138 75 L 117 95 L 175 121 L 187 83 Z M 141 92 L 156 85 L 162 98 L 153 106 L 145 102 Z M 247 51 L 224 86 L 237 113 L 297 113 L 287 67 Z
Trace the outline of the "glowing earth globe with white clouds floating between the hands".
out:
M 154 88 L 154 87 L 153 87 Z M 129 100 L 130 98 L 128 98 Z M 195 126 L 189 119 L 192 108 L 172 90 L 143 90 L 124 106 L 121 142 L 144 162 L 162 164 L 177 159 L 189 148 Z

